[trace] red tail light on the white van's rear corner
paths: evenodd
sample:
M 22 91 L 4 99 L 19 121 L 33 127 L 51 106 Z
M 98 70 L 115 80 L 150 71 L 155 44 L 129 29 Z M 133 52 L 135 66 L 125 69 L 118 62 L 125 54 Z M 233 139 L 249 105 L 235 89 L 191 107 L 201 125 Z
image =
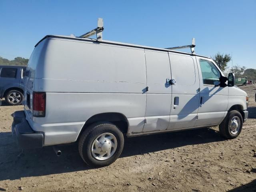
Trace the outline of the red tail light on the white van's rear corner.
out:
M 45 117 L 46 93 L 33 92 L 33 116 Z

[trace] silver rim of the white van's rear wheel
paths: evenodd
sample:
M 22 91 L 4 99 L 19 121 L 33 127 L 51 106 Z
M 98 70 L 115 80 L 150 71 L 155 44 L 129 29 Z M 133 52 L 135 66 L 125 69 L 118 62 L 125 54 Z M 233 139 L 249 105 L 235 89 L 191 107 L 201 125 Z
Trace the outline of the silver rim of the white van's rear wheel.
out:
M 97 160 L 106 160 L 114 155 L 117 148 L 116 137 L 111 133 L 103 133 L 92 142 L 92 156 Z

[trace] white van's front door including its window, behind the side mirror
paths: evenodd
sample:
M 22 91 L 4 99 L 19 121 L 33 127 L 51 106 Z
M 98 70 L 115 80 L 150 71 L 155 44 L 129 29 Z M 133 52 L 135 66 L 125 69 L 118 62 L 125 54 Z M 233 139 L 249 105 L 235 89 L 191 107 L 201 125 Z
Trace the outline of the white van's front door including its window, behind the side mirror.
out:
M 211 59 L 196 56 L 196 62 L 200 80 L 200 100 L 195 126 L 220 124 L 228 107 L 228 86 L 217 86 L 221 71 Z

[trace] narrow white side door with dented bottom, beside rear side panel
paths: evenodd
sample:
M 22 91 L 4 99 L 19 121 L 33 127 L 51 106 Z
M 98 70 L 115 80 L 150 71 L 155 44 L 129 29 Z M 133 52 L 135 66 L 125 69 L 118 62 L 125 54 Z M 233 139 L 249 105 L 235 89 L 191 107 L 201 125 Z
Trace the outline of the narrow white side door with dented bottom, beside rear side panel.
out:
M 147 103 L 142 132 L 161 131 L 168 128 L 172 101 L 172 86 L 168 52 L 145 50 L 147 74 Z

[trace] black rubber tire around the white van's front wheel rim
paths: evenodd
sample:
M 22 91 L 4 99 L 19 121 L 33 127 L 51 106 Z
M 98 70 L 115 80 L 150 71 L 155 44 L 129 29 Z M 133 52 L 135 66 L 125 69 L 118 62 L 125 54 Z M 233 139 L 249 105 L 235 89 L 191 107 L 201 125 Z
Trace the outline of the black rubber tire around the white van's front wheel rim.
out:
M 239 130 L 238 130 L 238 132 L 236 134 L 233 134 L 230 131 L 230 123 L 231 123 L 231 120 L 234 117 L 238 117 L 240 119 L 240 128 L 239 128 Z M 241 113 L 239 111 L 237 111 L 237 110 L 233 110 L 233 111 L 228 112 L 226 118 L 219 125 L 219 130 L 220 130 L 220 134 L 224 138 L 234 139 L 234 138 L 237 138 L 238 135 L 241 133 L 242 127 L 243 127 L 243 118 L 242 118 Z

